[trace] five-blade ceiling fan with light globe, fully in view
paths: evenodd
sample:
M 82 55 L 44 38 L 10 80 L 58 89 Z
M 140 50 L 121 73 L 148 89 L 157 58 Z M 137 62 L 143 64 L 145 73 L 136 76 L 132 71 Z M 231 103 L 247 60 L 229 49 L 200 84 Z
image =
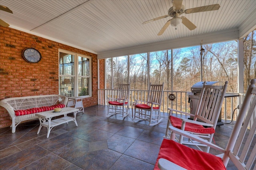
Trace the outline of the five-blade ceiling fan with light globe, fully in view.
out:
M 190 8 L 185 10 L 185 6 L 182 5 L 182 0 L 172 0 L 172 7 L 168 10 L 168 14 L 165 16 L 161 16 L 158 18 L 154 18 L 152 20 L 148 20 L 143 22 L 142 24 L 149 23 L 152 21 L 160 20 L 162 18 L 166 17 L 173 17 L 172 19 L 168 20 L 165 25 L 162 27 L 162 29 L 159 31 L 157 35 L 162 35 L 166 28 L 171 24 L 172 26 L 176 28 L 177 25 L 179 25 L 181 22 L 190 30 L 196 29 L 196 25 L 192 23 L 190 20 L 188 20 L 186 17 L 182 16 L 180 17 L 180 14 L 192 14 L 196 12 L 205 12 L 205 11 L 214 11 L 218 10 L 220 8 L 219 4 L 213 4 L 213 5 L 207 5 L 207 6 L 201 6 L 196 8 Z

